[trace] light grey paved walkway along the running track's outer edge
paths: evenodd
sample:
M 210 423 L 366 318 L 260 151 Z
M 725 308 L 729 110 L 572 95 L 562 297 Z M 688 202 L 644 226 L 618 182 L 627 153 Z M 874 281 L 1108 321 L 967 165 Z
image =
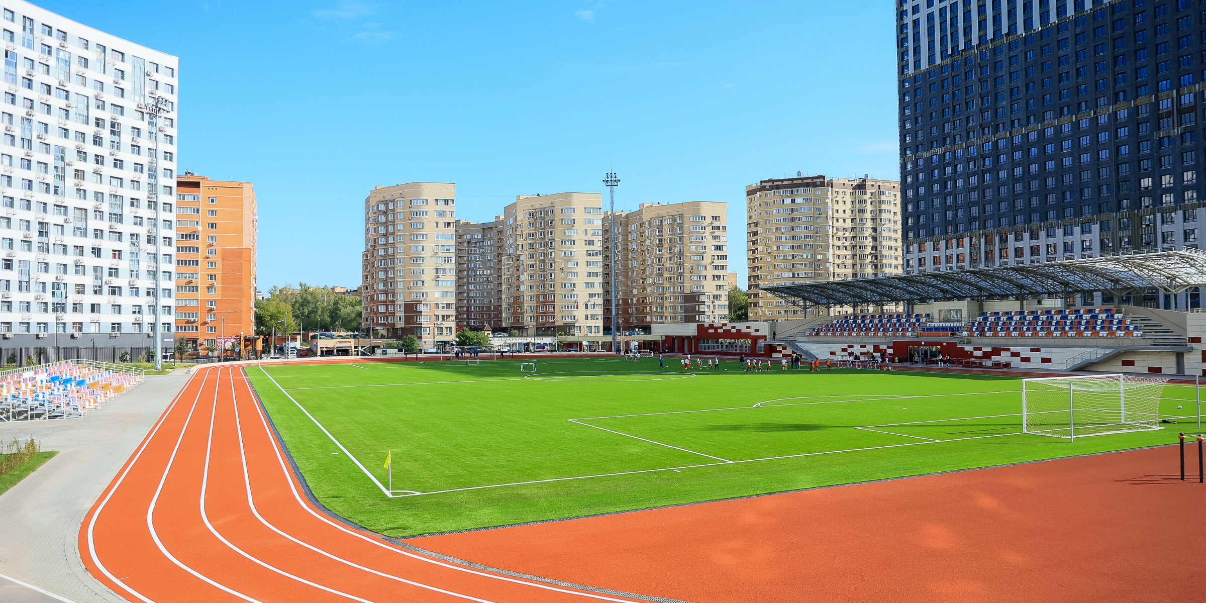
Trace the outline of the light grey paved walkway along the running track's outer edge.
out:
M 78 420 L 0 423 L 0 439 L 31 435 L 59 451 L 0 496 L 0 574 L 78 603 L 124 601 L 81 564 L 80 522 L 187 380 L 185 370 L 148 376 Z M 0 601 L 52 601 L 0 582 Z

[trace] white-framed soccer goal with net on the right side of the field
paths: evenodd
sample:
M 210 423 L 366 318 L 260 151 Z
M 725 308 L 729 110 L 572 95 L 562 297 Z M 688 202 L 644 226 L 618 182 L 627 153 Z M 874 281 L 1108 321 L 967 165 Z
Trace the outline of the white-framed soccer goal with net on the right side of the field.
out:
M 1160 428 L 1165 379 L 1112 375 L 1021 380 L 1021 431 L 1067 438 Z

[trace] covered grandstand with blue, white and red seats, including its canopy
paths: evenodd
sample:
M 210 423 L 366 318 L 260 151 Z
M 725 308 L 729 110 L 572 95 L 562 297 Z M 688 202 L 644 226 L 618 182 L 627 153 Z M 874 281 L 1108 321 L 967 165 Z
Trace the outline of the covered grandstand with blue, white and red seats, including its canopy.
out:
M 1206 374 L 1206 252 L 1132 253 L 767 287 L 819 316 L 772 341 L 997 368 Z M 868 311 L 878 308 L 878 311 Z M 863 309 L 854 311 L 851 309 Z M 901 311 L 903 310 L 903 311 Z

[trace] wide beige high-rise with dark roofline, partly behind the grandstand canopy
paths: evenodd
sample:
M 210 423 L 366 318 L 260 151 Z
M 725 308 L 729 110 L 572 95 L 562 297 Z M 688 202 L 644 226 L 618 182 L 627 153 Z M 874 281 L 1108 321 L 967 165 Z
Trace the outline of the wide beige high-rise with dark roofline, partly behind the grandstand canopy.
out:
M 760 287 L 902 271 L 898 181 L 763 180 L 745 187 L 745 216 L 751 321 L 804 315 Z

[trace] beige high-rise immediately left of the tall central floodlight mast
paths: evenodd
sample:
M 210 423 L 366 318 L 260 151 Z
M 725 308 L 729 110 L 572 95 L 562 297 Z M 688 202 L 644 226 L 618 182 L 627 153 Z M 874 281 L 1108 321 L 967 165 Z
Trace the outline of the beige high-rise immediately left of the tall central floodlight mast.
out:
M 603 198 L 519 195 L 507 206 L 503 324 L 525 335 L 603 333 Z

